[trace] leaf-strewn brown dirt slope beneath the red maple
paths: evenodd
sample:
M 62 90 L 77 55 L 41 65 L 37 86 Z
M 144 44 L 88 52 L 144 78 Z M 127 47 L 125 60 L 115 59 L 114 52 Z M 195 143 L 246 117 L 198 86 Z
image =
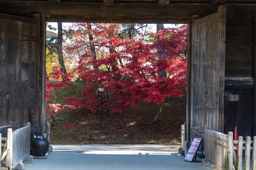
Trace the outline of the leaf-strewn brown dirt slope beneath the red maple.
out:
M 83 110 L 69 118 L 65 126 L 55 123 L 51 127 L 51 144 L 174 144 L 180 143 L 181 125 L 186 121 L 186 96 L 164 100 L 162 114 L 157 123 L 154 118 L 157 105 L 141 102 L 122 113 L 102 112 L 102 134 L 99 134 L 99 113 Z M 46 116 L 51 121 L 50 116 Z M 93 138 L 90 141 L 88 135 Z M 128 137 L 132 135 L 132 140 Z M 170 146 L 175 148 L 175 146 Z

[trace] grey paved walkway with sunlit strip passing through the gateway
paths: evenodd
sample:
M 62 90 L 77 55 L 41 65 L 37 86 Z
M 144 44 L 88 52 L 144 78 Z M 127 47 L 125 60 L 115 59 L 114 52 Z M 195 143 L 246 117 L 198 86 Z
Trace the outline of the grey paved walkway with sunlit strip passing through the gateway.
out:
M 185 162 L 179 146 L 163 145 L 52 145 L 47 159 L 24 164 L 25 170 L 210 170 Z

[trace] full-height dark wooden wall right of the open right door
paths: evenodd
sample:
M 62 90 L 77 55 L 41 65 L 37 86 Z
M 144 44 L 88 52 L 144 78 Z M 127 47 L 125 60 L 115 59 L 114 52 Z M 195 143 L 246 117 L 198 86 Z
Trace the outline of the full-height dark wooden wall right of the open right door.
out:
M 239 101 L 225 101 L 225 134 L 234 131 L 235 126 L 238 136 L 252 137 L 255 133 L 254 20 L 254 18 L 227 18 L 225 92 L 238 94 Z

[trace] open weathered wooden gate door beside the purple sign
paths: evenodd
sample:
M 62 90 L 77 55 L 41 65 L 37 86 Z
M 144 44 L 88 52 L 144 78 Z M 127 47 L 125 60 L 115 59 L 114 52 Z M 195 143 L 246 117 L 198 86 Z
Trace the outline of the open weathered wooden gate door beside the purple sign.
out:
M 192 22 L 191 139 L 223 132 L 226 8 Z

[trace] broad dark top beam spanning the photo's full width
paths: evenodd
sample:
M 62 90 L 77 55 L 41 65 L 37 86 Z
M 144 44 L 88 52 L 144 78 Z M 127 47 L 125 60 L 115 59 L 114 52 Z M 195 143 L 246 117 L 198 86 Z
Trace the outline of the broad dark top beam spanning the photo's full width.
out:
M 256 17 L 256 4 L 224 4 L 227 17 Z M 61 2 L 59 5 L 43 1 L 7 1 L 0 3 L 0 11 L 9 15 L 109 16 L 109 17 L 204 17 L 218 11 L 212 4 L 174 4 L 159 6 L 156 3 L 82 3 Z M 181 12 L 182 11 L 182 12 Z

